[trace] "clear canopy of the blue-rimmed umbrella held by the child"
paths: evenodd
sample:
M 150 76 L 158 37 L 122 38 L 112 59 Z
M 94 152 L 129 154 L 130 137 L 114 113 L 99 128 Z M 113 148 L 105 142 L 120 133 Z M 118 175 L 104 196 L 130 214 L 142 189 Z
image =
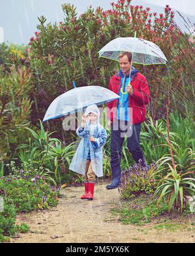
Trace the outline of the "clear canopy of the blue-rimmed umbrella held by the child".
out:
M 120 98 L 120 96 L 98 85 L 75 87 L 68 92 L 64 92 L 51 102 L 42 122 L 71 115 L 92 104 L 101 105 L 116 98 Z

